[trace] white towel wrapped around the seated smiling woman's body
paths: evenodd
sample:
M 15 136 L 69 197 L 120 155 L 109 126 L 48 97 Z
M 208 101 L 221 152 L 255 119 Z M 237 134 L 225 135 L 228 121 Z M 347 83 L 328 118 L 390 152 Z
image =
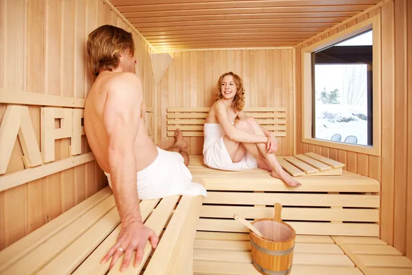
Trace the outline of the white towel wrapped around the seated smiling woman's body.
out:
M 256 159 L 247 152 L 240 162 L 231 160 L 227 152 L 223 136 L 225 132 L 218 123 L 205 123 L 203 129 L 205 140 L 203 143 L 203 162 L 210 168 L 238 171 L 258 167 Z

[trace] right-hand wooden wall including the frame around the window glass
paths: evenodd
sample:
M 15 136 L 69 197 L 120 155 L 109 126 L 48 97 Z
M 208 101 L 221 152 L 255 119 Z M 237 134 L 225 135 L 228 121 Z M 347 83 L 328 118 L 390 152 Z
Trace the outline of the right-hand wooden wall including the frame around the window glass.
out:
M 312 45 L 376 14 L 381 14 L 382 153 L 380 157 L 301 142 L 302 47 Z M 380 235 L 412 259 L 412 3 L 387 1 L 382 7 L 297 47 L 297 152 L 315 152 L 344 162 L 347 170 L 378 179 Z

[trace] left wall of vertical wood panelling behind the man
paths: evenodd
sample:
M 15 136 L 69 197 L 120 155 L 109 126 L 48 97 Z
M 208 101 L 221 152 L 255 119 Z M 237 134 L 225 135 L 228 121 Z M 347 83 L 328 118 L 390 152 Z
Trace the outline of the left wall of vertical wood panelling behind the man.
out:
M 0 0 L 0 93 L 86 98 L 93 77 L 85 66 L 85 41 L 106 23 L 132 31 L 100 0 Z M 137 32 L 134 38 L 146 104 L 153 107 L 152 50 Z M 40 146 L 40 106 L 29 108 Z M 5 109 L 0 103 L 0 122 Z M 69 145 L 69 138 L 56 140 L 56 160 L 69 157 Z M 89 151 L 83 136 L 82 153 Z M 6 175 L 24 169 L 22 155 L 16 140 Z M 0 192 L 0 250 L 105 185 L 106 177 L 92 161 Z

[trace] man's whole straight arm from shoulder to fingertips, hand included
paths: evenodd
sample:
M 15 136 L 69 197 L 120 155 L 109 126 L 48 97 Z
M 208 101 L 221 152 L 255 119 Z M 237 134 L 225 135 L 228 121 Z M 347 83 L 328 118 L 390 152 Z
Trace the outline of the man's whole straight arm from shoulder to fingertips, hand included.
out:
M 155 248 L 157 236 L 141 220 L 137 195 L 135 139 L 140 123 L 143 92 L 134 74 L 117 76 L 109 87 L 104 106 L 104 126 L 108 133 L 108 163 L 116 207 L 122 221 L 117 243 L 104 256 L 102 263 L 113 256 L 110 269 L 124 251 L 121 270 L 126 270 L 133 251 L 137 250 L 135 265 L 143 256 L 148 239 Z M 121 250 L 119 250 L 119 248 Z

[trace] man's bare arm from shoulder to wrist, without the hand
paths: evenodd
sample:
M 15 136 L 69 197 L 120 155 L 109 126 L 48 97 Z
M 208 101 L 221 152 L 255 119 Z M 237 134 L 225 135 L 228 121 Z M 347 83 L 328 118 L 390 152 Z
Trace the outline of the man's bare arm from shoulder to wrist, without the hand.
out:
M 137 196 L 136 157 L 133 145 L 139 129 L 142 98 L 139 81 L 118 76 L 109 88 L 104 105 L 104 126 L 108 133 L 108 164 L 113 195 L 124 225 L 141 222 Z

